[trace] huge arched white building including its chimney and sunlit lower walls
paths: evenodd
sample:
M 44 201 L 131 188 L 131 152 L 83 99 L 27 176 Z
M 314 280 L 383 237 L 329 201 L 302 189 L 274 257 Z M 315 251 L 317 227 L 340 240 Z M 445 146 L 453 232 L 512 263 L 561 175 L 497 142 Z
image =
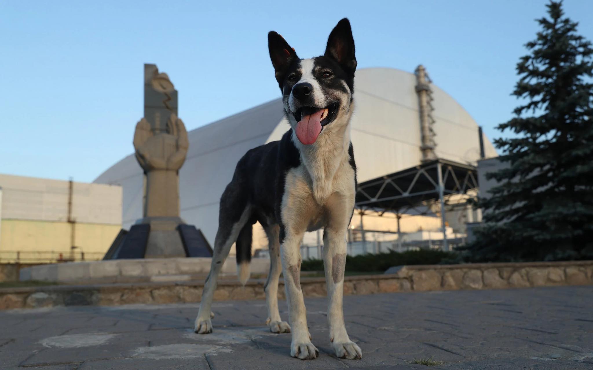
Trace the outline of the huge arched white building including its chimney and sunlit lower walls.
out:
M 418 72 L 391 68 L 356 72 L 351 137 L 359 183 L 413 169 L 432 159 L 473 168 L 480 157 L 497 156 L 484 136 L 480 153 L 477 123 L 452 96 L 428 78 L 419 79 Z M 219 198 L 237 161 L 247 150 L 279 140 L 288 129 L 278 98 L 188 133 L 189 152 L 179 173 L 181 217 L 201 229 L 209 243 L 213 244 L 218 227 Z M 129 131 L 131 137 L 133 123 Z M 94 183 L 122 186 L 124 228 L 142 217 L 144 174 L 134 155 L 115 163 Z M 432 209 L 430 204 L 424 206 Z M 475 217 L 472 212 L 461 207 L 447 213 L 445 231 L 452 237 L 463 234 L 464 223 Z M 401 215 L 370 209 L 364 215 L 355 213 L 351 229 L 367 230 L 362 235 L 372 231 L 375 239 L 382 240 L 396 232 L 406 233 L 408 239 L 413 235 L 424 237 L 426 233 L 420 231 L 442 230 L 443 220 L 437 213 L 410 210 Z M 254 249 L 267 248 L 263 230 L 259 225 L 254 227 Z M 429 232 L 439 239 L 437 234 Z M 318 240 L 318 234 L 308 233 L 304 244 L 314 246 Z

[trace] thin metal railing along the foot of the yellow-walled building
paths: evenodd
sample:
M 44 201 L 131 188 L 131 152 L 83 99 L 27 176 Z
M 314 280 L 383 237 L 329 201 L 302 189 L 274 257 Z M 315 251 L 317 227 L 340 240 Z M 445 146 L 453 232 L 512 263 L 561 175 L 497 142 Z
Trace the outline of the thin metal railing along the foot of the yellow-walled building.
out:
M 0 263 L 59 263 L 103 259 L 104 252 L 0 250 Z

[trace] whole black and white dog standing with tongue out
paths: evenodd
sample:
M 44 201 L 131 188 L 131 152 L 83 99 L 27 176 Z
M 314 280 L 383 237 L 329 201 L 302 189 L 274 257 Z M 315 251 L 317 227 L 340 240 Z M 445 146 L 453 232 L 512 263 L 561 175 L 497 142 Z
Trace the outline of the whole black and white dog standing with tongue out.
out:
M 346 233 L 356 189 L 350 143 L 356 58 L 350 22 L 346 18 L 338 22 L 323 56 L 299 59 L 284 38 L 273 31 L 268 34 L 268 46 L 291 130 L 280 141 L 249 150 L 237 163 L 222 194 L 212 267 L 195 331 L 212 332 L 216 279 L 235 242 L 240 280 L 243 284 L 247 281 L 251 230 L 259 221 L 269 240 L 271 259 L 264 286 L 266 324 L 273 333 L 292 331 L 291 356 L 316 358 L 319 351 L 311 343 L 299 281 L 300 247 L 305 231 L 323 227 L 331 346 L 339 358 L 361 358 L 361 349 L 346 333 L 342 311 Z M 278 311 L 280 272 L 292 329 Z

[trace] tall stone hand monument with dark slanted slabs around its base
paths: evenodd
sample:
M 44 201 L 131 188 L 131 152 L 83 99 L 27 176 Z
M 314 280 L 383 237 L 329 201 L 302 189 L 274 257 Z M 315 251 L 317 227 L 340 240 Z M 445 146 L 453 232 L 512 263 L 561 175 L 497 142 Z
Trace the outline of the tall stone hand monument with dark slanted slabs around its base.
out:
M 189 141 L 177 117 L 177 90 L 156 65 L 144 65 L 144 118 L 133 144 L 144 169 L 142 218 L 120 232 L 104 259 L 212 256 L 202 232 L 180 217 L 179 169 Z

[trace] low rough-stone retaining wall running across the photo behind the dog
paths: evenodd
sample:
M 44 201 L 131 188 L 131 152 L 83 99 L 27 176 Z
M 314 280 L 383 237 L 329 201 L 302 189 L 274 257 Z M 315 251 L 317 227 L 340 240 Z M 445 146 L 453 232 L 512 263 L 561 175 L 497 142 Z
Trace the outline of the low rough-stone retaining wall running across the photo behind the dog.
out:
M 215 300 L 264 299 L 264 279 L 219 281 Z M 593 261 L 398 266 L 385 275 L 346 276 L 345 294 L 455 289 L 499 289 L 593 284 Z M 284 298 L 283 283 L 279 288 Z M 324 278 L 302 278 L 305 297 L 326 296 Z M 0 289 L 0 309 L 59 305 L 167 304 L 199 302 L 203 281 L 141 284 L 56 285 Z

